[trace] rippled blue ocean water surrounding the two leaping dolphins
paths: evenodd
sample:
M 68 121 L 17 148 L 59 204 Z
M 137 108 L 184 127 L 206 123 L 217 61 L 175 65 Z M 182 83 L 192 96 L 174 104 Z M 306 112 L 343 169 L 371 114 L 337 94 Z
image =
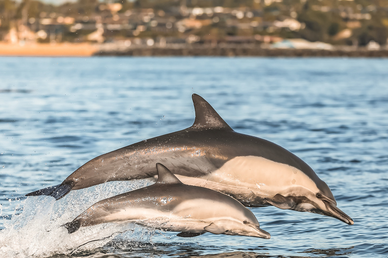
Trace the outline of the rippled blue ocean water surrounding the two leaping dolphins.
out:
M 0 257 L 387 257 L 388 59 L 0 57 Z M 194 121 L 204 97 L 237 132 L 272 141 L 331 188 L 349 226 L 253 208 L 271 239 L 180 238 L 103 224 L 61 227 L 91 204 L 151 181 L 65 198 L 24 197 L 88 160 Z

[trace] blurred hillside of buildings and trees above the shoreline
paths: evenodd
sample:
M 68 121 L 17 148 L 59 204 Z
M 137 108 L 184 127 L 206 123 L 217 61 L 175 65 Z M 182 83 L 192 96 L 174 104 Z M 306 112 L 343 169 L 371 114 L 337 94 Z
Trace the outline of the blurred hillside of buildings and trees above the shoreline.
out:
M 388 0 L 0 0 L 0 41 L 386 48 Z

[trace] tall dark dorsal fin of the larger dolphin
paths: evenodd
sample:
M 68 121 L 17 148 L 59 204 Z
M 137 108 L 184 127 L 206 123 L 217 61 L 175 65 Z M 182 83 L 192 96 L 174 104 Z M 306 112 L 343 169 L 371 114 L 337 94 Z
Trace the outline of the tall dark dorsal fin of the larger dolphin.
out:
M 193 128 L 223 128 L 232 130 L 230 126 L 221 118 L 214 108 L 200 95 L 192 94 L 192 102 L 196 111 L 196 120 L 192 124 Z

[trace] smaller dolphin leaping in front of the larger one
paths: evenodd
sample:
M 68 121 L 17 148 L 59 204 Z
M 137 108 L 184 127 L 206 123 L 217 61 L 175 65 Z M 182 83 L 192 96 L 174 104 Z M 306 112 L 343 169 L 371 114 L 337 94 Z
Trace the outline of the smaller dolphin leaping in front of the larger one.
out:
M 192 237 L 213 234 L 269 239 L 255 215 L 237 200 L 208 188 L 185 185 L 164 165 L 156 164 L 158 181 L 93 204 L 64 226 L 69 234 L 80 227 L 129 222 Z

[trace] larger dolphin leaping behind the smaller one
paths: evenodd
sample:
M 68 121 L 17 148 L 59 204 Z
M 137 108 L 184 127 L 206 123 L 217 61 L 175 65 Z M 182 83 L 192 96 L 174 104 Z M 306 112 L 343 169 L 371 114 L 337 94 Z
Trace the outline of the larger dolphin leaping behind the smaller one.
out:
M 27 196 L 58 200 L 72 189 L 153 177 L 153 164 L 163 163 L 183 183 L 224 192 L 245 206 L 273 205 L 354 223 L 336 207 L 330 188 L 303 160 L 272 142 L 234 132 L 201 96 L 193 94 L 192 100 L 196 112 L 192 126 L 103 154 L 61 184 Z

